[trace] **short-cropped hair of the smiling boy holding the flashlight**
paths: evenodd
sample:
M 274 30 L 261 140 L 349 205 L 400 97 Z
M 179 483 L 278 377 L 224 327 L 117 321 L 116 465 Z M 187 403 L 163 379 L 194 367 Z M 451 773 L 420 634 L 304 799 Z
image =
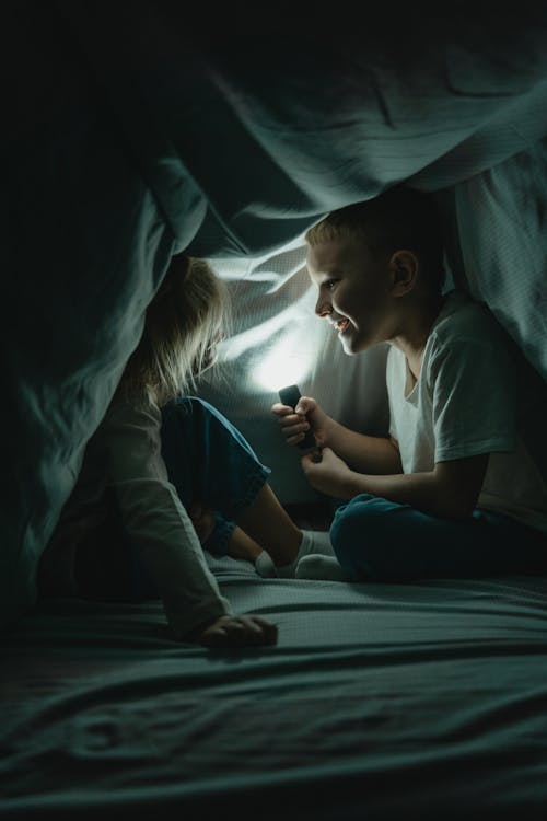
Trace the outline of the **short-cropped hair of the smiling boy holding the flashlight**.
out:
M 360 239 L 373 254 L 412 251 L 431 287 L 444 282 L 444 246 L 440 215 L 430 195 L 396 185 L 371 199 L 338 208 L 310 228 L 309 245 L 339 239 Z

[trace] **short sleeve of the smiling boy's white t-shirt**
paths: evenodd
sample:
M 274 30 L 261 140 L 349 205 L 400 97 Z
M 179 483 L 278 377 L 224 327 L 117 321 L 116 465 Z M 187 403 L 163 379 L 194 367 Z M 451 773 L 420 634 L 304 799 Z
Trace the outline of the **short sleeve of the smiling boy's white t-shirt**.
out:
M 507 351 L 489 339 L 452 339 L 431 358 L 434 461 L 511 451 L 515 384 Z

